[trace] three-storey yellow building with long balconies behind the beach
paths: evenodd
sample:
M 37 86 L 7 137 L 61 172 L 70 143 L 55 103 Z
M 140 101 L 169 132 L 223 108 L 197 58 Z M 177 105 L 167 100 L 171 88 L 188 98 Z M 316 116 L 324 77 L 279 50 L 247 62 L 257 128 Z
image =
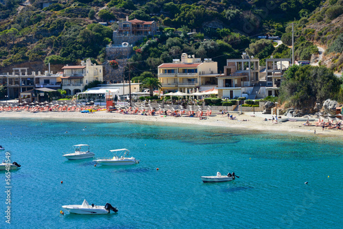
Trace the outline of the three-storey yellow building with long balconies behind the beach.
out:
M 189 89 L 199 88 L 205 91 L 217 86 L 217 62 L 211 59 L 195 58 L 182 53 L 181 60 L 174 59 L 172 63 L 164 63 L 158 66 L 158 80 L 162 84 L 161 91 L 186 92 Z

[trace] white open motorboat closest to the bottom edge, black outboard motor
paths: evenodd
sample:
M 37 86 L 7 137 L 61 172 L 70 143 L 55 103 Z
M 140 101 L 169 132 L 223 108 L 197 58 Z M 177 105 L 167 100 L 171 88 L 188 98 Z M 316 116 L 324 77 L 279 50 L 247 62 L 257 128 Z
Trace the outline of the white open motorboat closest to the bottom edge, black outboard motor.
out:
M 86 200 L 81 205 L 73 204 L 73 205 L 64 205 L 62 206 L 65 210 L 68 210 L 69 213 L 73 214 L 81 214 L 81 215 L 102 215 L 110 213 L 110 210 L 113 210 L 117 213 L 117 208 L 114 208 L 110 204 L 106 204 L 105 206 L 97 206 L 94 204 L 89 205 Z

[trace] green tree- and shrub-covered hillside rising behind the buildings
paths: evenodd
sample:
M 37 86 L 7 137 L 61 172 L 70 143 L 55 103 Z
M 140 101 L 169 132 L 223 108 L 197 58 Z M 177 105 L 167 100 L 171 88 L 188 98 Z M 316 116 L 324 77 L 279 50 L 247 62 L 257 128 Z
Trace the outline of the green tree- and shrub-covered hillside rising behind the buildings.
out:
M 221 70 L 226 58 L 237 58 L 247 48 L 249 52 L 251 45 L 260 47 L 253 49 L 253 54 L 261 59 L 270 55 L 289 57 L 286 46 L 274 49 L 272 43 L 258 43 L 256 36 L 283 35 L 289 45 L 289 22 L 294 19 L 298 20 L 296 57 L 304 59 L 317 52 L 310 41 L 318 41 L 312 35 L 319 33 L 311 30 L 315 24 L 311 22 L 320 20 L 320 16 L 325 23 L 342 17 L 342 0 L 56 0 L 47 8 L 42 8 L 42 2 L 0 1 L 1 69 L 25 62 L 73 64 L 84 58 L 102 62 L 106 58 L 104 48 L 118 26 L 116 22 L 126 16 L 154 20 L 160 26 L 161 34 L 135 44 L 132 60 L 141 63 L 137 68 L 142 71 L 150 71 L 182 52 L 217 58 Z M 99 22 L 108 22 L 109 26 Z M 198 34 L 189 37 L 191 29 Z M 331 34 L 338 34 L 338 30 Z M 333 47 L 340 46 L 342 39 L 324 33 L 318 36 L 326 36 L 327 43 L 335 44 Z

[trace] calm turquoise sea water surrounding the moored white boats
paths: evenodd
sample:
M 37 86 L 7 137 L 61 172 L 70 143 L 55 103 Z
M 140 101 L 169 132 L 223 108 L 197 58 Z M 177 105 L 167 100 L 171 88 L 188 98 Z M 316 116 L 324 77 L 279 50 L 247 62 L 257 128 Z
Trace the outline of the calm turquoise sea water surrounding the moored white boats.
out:
M 11 172 L 11 224 L 0 228 L 342 228 L 340 137 L 187 125 L 1 119 L 0 145 Z M 72 145 L 95 156 L 130 149 L 128 167 L 68 161 Z M 0 160 L 5 159 L 0 152 Z M 159 168 L 157 171 L 156 168 Z M 235 171 L 233 182 L 200 176 Z M 63 181 L 63 184 L 61 184 Z M 305 184 L 308 182 L 308 184 Z M 62 205 L 116 206 L 108 215 L 60 215 Z

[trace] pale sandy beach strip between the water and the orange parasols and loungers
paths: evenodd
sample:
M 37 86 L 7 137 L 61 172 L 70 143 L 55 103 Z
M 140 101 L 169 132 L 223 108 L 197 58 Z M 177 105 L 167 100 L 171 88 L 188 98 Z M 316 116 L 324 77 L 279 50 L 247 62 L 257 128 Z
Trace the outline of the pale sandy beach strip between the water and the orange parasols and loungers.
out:
M 208 125 L 220 126 L 222 128 L 234 128 L 240 130 L 258 130 L 264 132 L 298 132 L 304 134 L 317 135 L 335 135 L 343 136 L 342 130 L 322 130 L 322 127 L 315 126 L 311 122 L 311 126 L 303 125 L 305 121 L 286 121 L 273 123 L 272 115 L 263 115 L 261 112 L 253 114 L 252 112 L 245 112 L 242 115 L 232 114 L 236 117 L 235 120 L 229 120 L 227 115 L 222 115 L 220 112 L 213 114 L 207 119 L 199 119 L 197 117 L 165 117 L 164 115 L 123 115 L 117 112 L 97 111 L 93 113 L 81 112 L 0 112 L 1 118 L 10 119 L 56 119 L 65 121 L 133 121 L 133 122 L 159 122 L 182 125 Z M 268 121 L 265 121 L 268 119 Z M 244 121 L 246 120 L 246 121 Z

